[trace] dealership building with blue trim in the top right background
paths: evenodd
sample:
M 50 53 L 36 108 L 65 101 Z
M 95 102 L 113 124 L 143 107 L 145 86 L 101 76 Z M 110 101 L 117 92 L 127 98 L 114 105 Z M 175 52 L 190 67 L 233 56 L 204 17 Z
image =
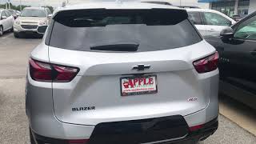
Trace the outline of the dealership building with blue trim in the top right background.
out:
M 256 0 L 198 0 L 209 3 L 209 8 L 218 10 L 230 17 L 233 15 L 244 16 L 256 10 Z

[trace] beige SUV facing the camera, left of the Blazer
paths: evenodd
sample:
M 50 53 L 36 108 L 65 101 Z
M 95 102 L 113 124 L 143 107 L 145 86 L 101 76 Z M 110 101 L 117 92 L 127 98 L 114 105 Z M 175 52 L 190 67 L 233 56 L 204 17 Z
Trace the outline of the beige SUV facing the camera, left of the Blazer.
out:
M 14 37 L 38 34 L 38 26 L 48 26 L 52 13 L 45 7 L 26 7 L 14 22 Z

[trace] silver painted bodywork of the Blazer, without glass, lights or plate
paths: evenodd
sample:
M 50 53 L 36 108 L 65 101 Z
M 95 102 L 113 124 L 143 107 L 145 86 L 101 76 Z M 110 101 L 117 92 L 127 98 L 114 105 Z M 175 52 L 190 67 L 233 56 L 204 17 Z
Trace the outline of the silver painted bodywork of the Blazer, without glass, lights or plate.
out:
M 114 2 L 112 5 L 101 3 L 60 9 L 166 9 L 166 6 L 154 4 L 132 4 Z M 180 10 L 169 6 L 168 9 Z M 200 41 L 195 44 L 170 50 L 120 52 L 48 46 L 48 34 L 52 34 L 50 28 L 30 58 L 47 64 L 77 67 L 79 71 L 70 82 L 38 82 L 31 78 L 28 69 L 26 114 L 35 134 L 48 138 L 89 139 L 94 128 L 104 122 L 143 121 L 179 115 L 190 127 L 218 118 L 218 69 L 198 74 L 193 65 L 216 52 L 200 36 Z M 140 64 L 150 65 L 150 68 L 133 70 Z M 145 75 L 157 76 L 157 94 L 122 97 L 120 78 Z M 90 106 L 94 109 L 83 109 Z

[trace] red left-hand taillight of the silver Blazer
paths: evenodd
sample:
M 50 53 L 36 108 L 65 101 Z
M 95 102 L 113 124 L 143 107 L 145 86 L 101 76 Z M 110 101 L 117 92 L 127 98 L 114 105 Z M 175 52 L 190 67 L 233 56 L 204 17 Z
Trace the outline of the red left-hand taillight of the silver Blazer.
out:
M 30 59 L 30 76 L 40 82 L 70 82 L 79 69 Z

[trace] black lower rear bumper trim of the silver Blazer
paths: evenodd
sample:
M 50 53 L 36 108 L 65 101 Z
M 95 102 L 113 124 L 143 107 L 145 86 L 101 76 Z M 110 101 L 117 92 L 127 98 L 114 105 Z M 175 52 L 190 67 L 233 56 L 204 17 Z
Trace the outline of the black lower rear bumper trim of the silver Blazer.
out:
M 199 130 L 191 131 L 185 119 L 178 115 L 127 122 L 107 122 L 95 126 L 89 142 L 84 142 L 84 144 L 196 142 L 208 138 L 217 129 L 218 118 L 207 122 Z M 32 134 L 38 144 L 69 143 L 69 140 L 66 139 L 46 138 L 34 132 Z

